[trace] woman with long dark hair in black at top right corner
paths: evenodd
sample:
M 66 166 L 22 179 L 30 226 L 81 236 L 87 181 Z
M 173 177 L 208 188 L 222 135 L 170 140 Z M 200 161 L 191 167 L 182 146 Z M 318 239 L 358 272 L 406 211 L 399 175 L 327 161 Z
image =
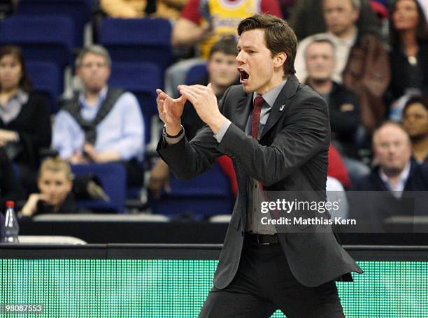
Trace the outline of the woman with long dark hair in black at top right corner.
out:
M 390 38 L 392 101 L 411 92 L 428 94 L 428 26 L 418 1 L 394 2 Z

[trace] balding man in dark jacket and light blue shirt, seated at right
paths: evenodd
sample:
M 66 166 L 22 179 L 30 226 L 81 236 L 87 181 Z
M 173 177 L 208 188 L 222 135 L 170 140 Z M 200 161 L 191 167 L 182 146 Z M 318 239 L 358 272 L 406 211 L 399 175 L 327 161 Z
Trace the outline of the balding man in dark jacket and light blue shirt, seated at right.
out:
M 377 166 L 348 197 L 362 231 L 394 231 L 394 217 L 427 215 L 428 166 L 412 158 L 411 140 L 400 124 L 386 122 L 373 132 Z M 373 193 L 372 191 L 382 191 Z M 422 195 L 421 195 L 422 194 Z M 392 227 L 391 227 L 392 226 Z

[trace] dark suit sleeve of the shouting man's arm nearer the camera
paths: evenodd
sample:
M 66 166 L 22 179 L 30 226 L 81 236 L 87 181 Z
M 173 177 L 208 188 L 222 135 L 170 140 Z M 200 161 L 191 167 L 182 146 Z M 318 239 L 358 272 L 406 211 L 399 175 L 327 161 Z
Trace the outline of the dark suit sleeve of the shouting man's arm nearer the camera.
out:
M 217 149 L 265 186 L 283 180 L 329 143 L 325 102 L 307 90 L 303 94 L 306 97 L 294 96 L 287 114 L 290 124 L 279 131 L 270 146 L 260 145 L 232 123 Z

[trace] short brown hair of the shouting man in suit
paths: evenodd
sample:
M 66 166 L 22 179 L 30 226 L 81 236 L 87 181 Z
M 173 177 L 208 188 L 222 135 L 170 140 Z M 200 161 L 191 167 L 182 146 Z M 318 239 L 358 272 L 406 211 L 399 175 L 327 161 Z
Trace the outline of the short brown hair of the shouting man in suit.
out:
M 264 41 L 272 55 L 285 52 L 287 60 L 284 63 L 284 74 L 296 73 L 294 59 L 297 51 L 297 36 L 283 19 L 274 15 L 252 15 L 242 20 L 238 25 L 238 36 L 245 31 L 254 29 L 264 30 Z

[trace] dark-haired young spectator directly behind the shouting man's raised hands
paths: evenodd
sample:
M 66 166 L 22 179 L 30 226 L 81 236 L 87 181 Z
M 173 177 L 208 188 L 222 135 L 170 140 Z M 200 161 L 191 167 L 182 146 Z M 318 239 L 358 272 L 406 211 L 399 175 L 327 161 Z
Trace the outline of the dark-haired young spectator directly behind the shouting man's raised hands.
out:
M 217 96 L 217 101 L 220 101 L 229 86 L 238 84 L 239 73 L 235 60 L 236 55 L 238 55 L 238 50 L 236 49 L 236 41 L 233 38 L 218 41 L 211 48 L 207 64 L 208 73 L 198 83 L 190 84 L 208 85 L 208 83 L 211 83 L 215 96 Z M 205 125 L 189 101 L 185 104 L 181 120 L 183 126 L 186 127 L 185 135 L 188 140 L 192 140 L 197 131 Z M 231 159 L 227 156 L 222 156 L 217 158 L 217 163 L 220 164 L 229 178 L 232 192 L 236 196 L 238 185 Z M 169 167 L 162 159 L 159 159 L 152 168 L 149 189 L 155 198 L 160 197 L 162 189 L 169 191 Z

